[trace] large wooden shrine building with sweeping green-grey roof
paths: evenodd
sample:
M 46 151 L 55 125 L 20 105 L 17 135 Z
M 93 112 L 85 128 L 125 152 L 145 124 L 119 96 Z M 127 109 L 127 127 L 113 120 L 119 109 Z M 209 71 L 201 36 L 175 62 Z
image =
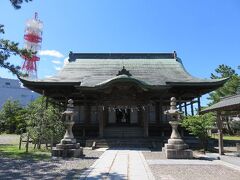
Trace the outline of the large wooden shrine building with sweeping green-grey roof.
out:
M 201 69 L 199 69 L 201 71 Z M 204 70 L 204 69 L 202 69 Z M 25 87 L 65 105 L 74 100 L 74 134 L 84 137 L 166 136 L 171 97 L 185 114 L 227 79 L 191 76 L 174 53 L 72 53 L 58 75 L 20 78 Z M 187 107 L 190 109 L 187 110 Z

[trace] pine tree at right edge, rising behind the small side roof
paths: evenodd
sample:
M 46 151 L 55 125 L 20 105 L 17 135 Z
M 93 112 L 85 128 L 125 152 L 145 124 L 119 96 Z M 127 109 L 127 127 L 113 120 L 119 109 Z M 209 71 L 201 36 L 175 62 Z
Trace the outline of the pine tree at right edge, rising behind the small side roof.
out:
M 229 78 L 229 80 L 223 87 L 209 94 L 208 99 L 211 100 L 209 105 L 219 102 L 222 97 L 234 95 L 239 91 L 240 77 L 230 66 L 224 64 L 219 65 L 219 67 L 215 69 L 215 74 L 211 74 L 211 79 L 220 78 Z

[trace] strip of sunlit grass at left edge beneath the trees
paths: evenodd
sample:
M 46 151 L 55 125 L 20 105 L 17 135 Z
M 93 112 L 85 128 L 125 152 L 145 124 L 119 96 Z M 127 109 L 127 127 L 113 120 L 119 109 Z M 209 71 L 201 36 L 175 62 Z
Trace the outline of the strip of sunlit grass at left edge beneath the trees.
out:
M 14 159 L 31 159 L 31 160 L 48 160 L 51 158 L 49 150 L 34 150 L 29 147 L 29 152 L 25 152 L 23 147 L 18 149 L 18 145 L 0 145 L 0 156 L 14 158 Z

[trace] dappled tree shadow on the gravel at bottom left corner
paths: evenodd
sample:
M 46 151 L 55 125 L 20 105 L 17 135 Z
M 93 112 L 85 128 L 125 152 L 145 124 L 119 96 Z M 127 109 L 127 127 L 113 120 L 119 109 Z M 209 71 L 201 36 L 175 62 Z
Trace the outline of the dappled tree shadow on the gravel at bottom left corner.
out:
M 0 159 L 0 179 L 75 179 L 83 169 L 59 169 L 59 161 L 37 162 L 32 160 Z

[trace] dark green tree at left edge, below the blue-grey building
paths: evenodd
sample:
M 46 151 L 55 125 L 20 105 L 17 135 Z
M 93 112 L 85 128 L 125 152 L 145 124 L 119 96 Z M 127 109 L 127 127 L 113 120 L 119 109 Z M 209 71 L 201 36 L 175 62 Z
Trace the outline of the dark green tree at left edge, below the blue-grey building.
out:
M 24 125 L 24 120 L 19 118 L 23 108 L 19 101 L 7 100 L 0 111 L 0 132 L 17 133 L 21 128 L 19 124 Z

